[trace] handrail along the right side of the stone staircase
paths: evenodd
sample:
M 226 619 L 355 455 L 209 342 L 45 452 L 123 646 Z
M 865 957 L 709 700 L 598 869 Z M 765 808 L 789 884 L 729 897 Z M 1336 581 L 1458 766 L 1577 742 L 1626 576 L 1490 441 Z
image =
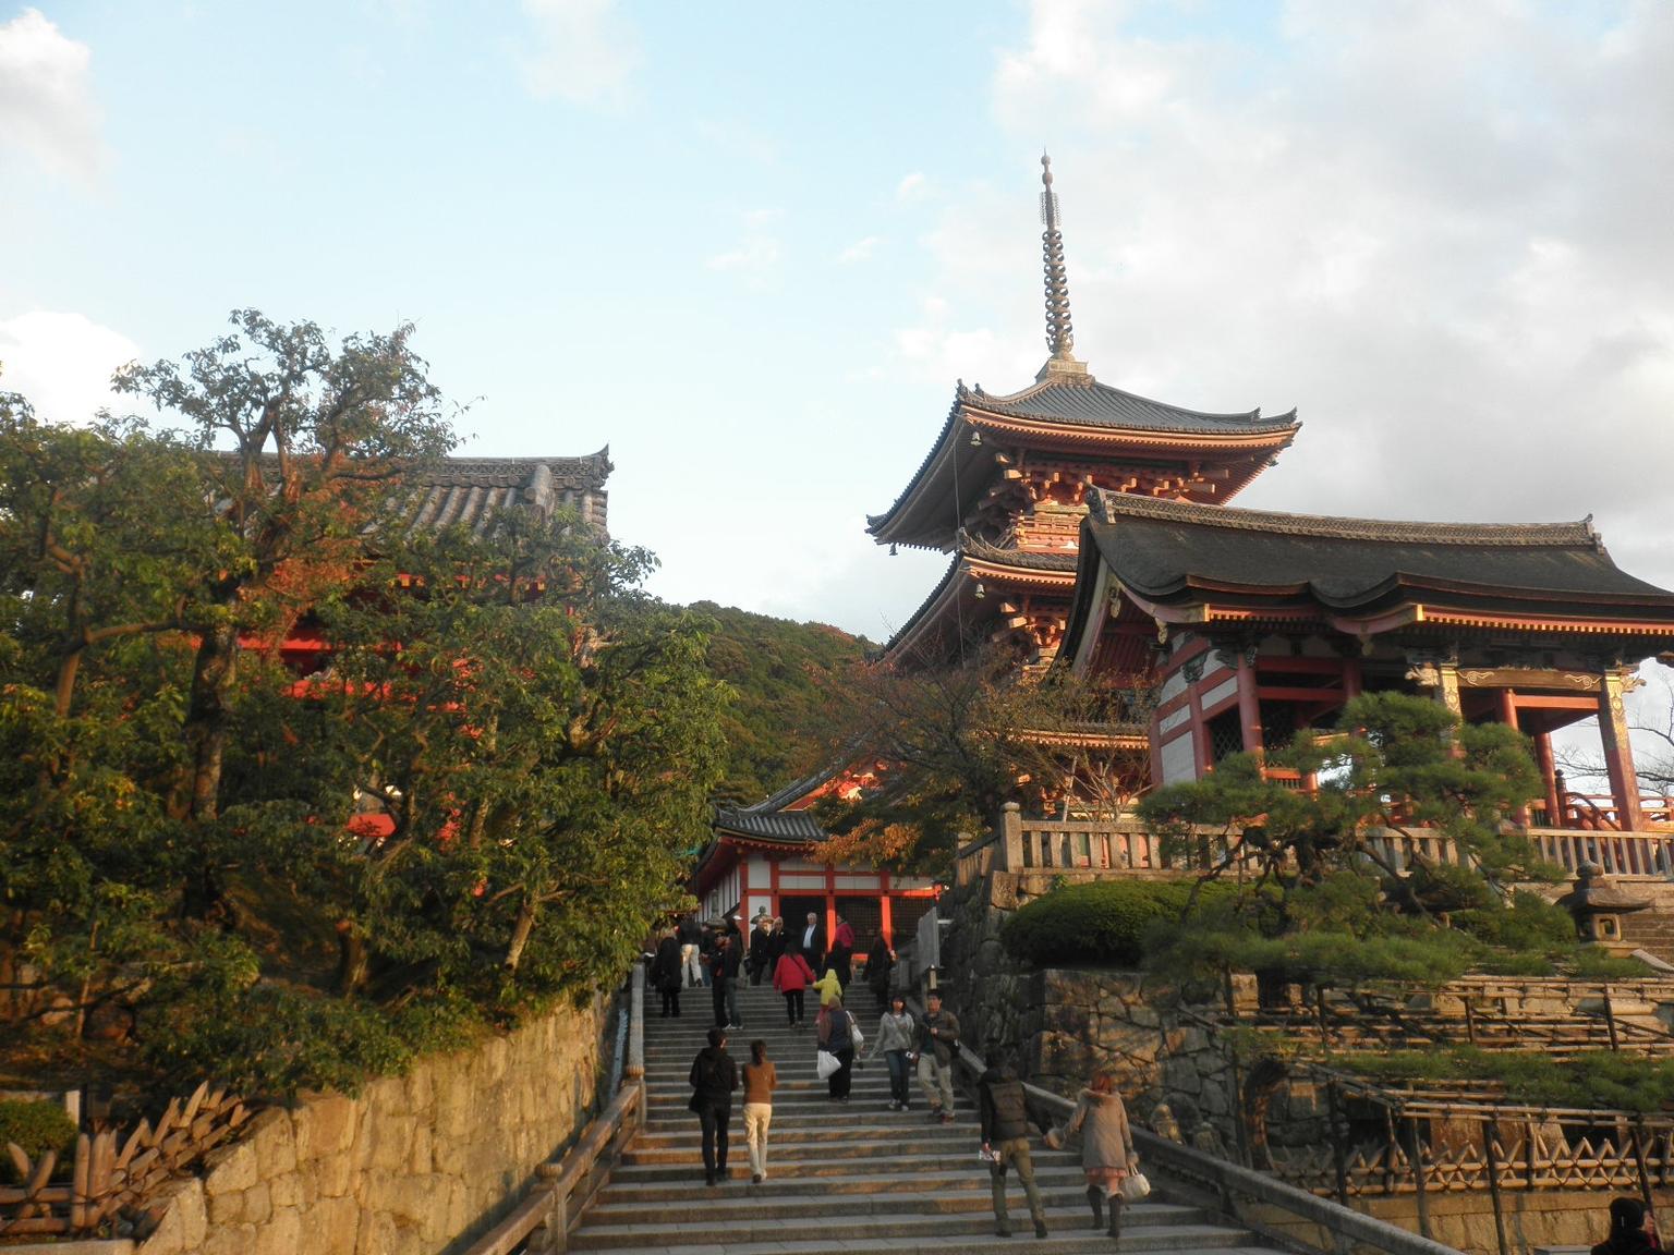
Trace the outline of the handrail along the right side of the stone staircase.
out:
M 959 1063 L 974 1076 L 981 1076 L 988 1069 L 983 1058 L 963 1042 L 959 1046 Z M 1068 1118 L 1075 1111 L 1075 1103 L 1068 1098 L 1033 1084 L 1024 1084 L 1023 1089 L 1036 1109 L 1063 1118 Z M 1182 1146 L 1177 1141 L 1168 1141 L 1150 1130 L 1135 1128 L 1133 1146 L 1142 1160 L 1165 1168 L 1173 1176 L 1189 1178 L 1212 1190 L 1230 1217 L 1254 1230 L 1261 1230 L 1262 1225 L 1249 1215 L 1240 1213 L 1240 1201 L 1274 1208 L 1304 1223 L 1317 1225 L 1334 1240 L 1353 1242 L 1361 1248 L 1383 1252 L 1384 1255 L 1458 1255 L 1456 1248 L 1445 1247 L 1416 1233 L 1408 1233 L 1388 1220 L 1378 1220 L 1329 1198 L 1312 1195 L 1307 1190 L 1297 1190 L 1294 1185 L 1277 1181 L 1266 1173 L 1205 1155 L 1190 1146 Z M 1294 1242 L 1294 1237 L 1291 1237 L 1291 1242 Z

